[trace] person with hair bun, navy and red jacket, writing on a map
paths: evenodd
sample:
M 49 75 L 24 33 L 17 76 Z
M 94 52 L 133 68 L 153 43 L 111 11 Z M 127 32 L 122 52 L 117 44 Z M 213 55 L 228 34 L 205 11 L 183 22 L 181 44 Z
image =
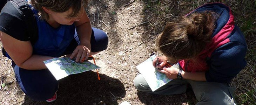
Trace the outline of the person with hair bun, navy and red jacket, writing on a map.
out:
M 137 90 L 181 94 L 192 87 L 197 105 L 235 104 L 235 88 L 229 82 L 246 65 L 247 45 L 229 7 L 222 3 L 198 7 L 167 23 L 156 43 L 163 54 L 156 68 L 173 80 L 152 92 L 139 74 L 134 82 Z M 176 64 L 167 68 L 167 61 Z

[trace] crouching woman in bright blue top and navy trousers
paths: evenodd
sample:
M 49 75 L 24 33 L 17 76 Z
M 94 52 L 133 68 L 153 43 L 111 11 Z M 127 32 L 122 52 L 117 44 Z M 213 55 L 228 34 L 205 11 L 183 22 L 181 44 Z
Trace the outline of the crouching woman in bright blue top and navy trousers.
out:
M 8 0 L 2 8 L 3 54 L 12 59 L 16 80 L 32 99 L 57 98 L 59 82 L 43 61 L 66 55 L 81 62 L 107 48 L 106 33 L 91 27 L 84 6 L 87 0 Z

